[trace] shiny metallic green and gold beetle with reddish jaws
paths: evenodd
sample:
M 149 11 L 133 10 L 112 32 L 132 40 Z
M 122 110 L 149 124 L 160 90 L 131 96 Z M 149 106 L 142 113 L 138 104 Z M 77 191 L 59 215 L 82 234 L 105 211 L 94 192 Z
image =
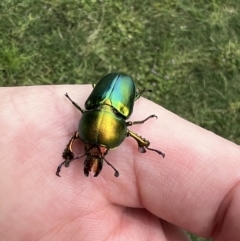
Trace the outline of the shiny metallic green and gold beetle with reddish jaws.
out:
M 58 166 L 56 175 L 60 177 L 59 173 L 63 165 L 68 167 L 73 160 L 86 156 L 85 176 L 93 171 L 94 177 L 97 177 L 105 161 L 115 171 L 114 175 L 118 177 L 119 172 L 105 159 L 105 156 L 108 150 L 118 147 L 128 136 L 137 141 L 139 152 L 145 153 L 148 149 L 165 157 L 161 151 L 149 148 L 148 140 L 127 128 L 135 124 L 143 124 L 150 118 L 157 118 L 156 115 L 150 115 L 141 121 L 126 121 L 133 112 L 134 102 L 145 91 L 148 90 L 136 91 L 130 76 L 109 73 L 93 85 L 93 91 L 85 102 L 85 109 L 76 104 L 66 93 L 65 96 L 82 113 L 82 117 L 78 131 L 74 133 L 63 151 L 64 161 Z M 75 157 L 72 145 L 76 139 L 80 139 L 85 144 L 85 153 Z

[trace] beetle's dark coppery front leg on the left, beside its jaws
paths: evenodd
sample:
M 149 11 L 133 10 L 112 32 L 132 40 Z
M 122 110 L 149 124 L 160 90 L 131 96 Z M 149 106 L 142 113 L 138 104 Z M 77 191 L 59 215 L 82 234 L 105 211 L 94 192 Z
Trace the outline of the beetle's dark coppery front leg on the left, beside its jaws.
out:
M 66 148 L 63 151 L 62 157 L 64 158 L 64 161 L 58 166 L 56 175 L 60 177 L 59 173 L 61 171 L 62 165 L 65 167 L 69 167 L 70 162 L 74 160 L 74 153 L 72 151 L 72 145 L 75 139 L 79 138 L 78 132 L 75 132 L 75 134 L 72 136 L 70 141 L 68 142 Z

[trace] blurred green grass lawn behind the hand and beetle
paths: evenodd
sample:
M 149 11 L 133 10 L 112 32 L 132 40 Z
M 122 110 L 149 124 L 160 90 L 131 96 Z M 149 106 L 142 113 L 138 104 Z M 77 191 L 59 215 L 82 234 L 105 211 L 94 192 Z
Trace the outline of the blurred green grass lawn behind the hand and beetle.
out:
M 235 0 L 2 0 L 0 85 L 125 72 L 156 103 L 240 144 L 239 16 Z

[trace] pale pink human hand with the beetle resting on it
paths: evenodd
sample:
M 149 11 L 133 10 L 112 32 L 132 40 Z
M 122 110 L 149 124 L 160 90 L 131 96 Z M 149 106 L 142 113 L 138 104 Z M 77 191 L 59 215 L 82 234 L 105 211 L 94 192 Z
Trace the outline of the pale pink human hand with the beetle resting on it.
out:
M 188 240 L 182 229 L 215 241 L 240 240 L 240 148 L 140 98 L 129 129 L 151 141 L 141 154 L 132 138 L 109 151 L 97 178 L 84 158 L 62 168 L 92 87 L 1 88 L 1 240 Z M 74 146 L 83 153 L 80 141 Z M 165 221 L 164 221 L 165 220 Z

